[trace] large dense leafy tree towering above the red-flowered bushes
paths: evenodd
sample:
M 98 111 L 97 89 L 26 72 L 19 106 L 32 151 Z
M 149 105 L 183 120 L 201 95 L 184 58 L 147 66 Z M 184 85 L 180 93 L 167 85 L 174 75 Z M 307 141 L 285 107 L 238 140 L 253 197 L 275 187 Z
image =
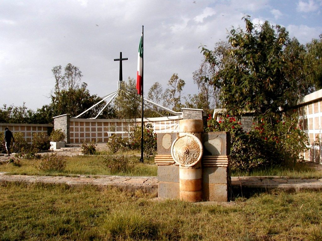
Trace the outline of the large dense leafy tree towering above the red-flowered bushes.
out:
M 253 25 L 250 16 L 242 19 L 245 30 L 230 31 L 227 37 L 230 48 L 224 55 L 202 47 L 206 60 L 215 69 L 212 81 L 221 86 L 223 107 L 233 115 L 249 111 L 265 118 L 279 118 L 302 94 L 286 61 L 288 32 L 267 21 Z M 232 58 L 226 61 L 228 54 Z

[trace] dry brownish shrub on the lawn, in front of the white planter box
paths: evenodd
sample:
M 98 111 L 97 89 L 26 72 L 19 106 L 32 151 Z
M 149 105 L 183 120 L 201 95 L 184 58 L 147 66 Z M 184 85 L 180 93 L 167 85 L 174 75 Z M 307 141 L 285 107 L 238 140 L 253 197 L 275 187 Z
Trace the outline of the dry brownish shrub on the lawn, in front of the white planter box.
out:
M 46 172 L 62 172 L 66 167 L 66 160 L 57 154 L 46 154 L 41 158 L 39 170 Z

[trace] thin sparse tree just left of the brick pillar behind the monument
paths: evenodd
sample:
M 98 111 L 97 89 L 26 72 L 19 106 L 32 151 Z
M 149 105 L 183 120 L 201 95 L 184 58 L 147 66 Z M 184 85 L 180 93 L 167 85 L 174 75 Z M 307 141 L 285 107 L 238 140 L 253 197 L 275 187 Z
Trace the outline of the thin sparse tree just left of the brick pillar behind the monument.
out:
M 185 81 L 179 79 L 178 74 L 173 74 L 168 81 L 169 88 L 165 91 L 166 101 L 163 103 L 164 106 L 172 106 L 172 110 L 181 111 L 183 107 L 181 103 L 182 90 L 185 87 Z

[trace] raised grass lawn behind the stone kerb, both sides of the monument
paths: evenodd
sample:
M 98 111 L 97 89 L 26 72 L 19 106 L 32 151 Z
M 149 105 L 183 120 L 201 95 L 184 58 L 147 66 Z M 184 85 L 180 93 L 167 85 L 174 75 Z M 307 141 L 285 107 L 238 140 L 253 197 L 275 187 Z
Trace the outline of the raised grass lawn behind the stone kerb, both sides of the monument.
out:
M 128 158 L 127 170 L 113 171 L 109 168 L 111 162 L 109 157 L 125 156 Z M 37 167 L 41 160 L 21 159 L 21 166 L 14 166 L 12 163 L 0 163 L 0 172 L 10 174 L 28 175 L 129 175 L 129 176 L 156 176 L 157 166 L 154 165 L 153 157 L 145 159 L 144 164 L 139 163 L 139 153 L 128 151 L 117 155 L 108 152 L 101 152 L 99 155 L 65 157 L 66 168 L 62 172 L 44 172 Z M 115 163 L 114 163 L 115 164 Z M 262 170 L 254 170 L 250 173 L 233 171 L 232 176 L 289 176 L 303 178 L 321 178 L 322 170 L 315 170 L 305 163 L 299 162 L 295 166 L 280 166 Z

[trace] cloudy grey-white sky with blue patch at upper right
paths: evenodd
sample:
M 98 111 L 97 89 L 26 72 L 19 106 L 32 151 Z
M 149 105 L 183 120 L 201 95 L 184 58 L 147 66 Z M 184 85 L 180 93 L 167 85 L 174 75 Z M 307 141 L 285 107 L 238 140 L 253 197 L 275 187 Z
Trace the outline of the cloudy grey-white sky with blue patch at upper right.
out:
M 0 108 L 36 110 L 49 104 L 52 68 L 79 67 L 90 94 L 117 90 L 122 52 L 123 80 L 136 78 L 144 25 L 144 95 L 177 73 L 183 94 L 197 94 L 193 72 L 232 28 L 269 21 L 305 44 L 322 33 L 322 0 L 0 0 Z

